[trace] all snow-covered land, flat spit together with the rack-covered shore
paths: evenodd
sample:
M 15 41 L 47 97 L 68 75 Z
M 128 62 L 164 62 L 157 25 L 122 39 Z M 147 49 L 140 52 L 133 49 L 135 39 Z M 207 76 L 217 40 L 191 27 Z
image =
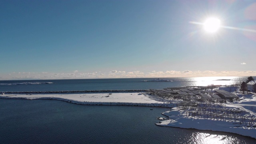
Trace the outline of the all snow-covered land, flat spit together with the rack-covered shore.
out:
M 214 104 L 200 101 L 197 106 L 184 107 L 184 100 L 154 96 L 150 93 L 80 93 L 80 94 L 4 94 L 5 99 L 52 99 L 86 105 L 126 105 L 126 106 L 162 106 L 172 107 L 171 111 L 163 112 L 168 120 L 159 122 L 158 126 L 179 128 L 195 128 L 232 132 L 256 138 L 256 94 L 242 94 L 236 87 L 220 87 L 220 90 L 232 92 L 239 100 L 227 101 L 226 104 Z M 213 91 L 213 90 L 212 90 Z M 200 91 L 201 92 L 201 91 Z M 209 90 L 204 93 L 211 94 Z M 176 95 L 178 98 L 178 96 Z M 197 98 L 196 96 L 195 98 Z M 184 98 L 184 97 L 183 97 Z M 200 100 L 200 98 L 198 99 Z M 173 108 L 175 107 L 175 108 Z

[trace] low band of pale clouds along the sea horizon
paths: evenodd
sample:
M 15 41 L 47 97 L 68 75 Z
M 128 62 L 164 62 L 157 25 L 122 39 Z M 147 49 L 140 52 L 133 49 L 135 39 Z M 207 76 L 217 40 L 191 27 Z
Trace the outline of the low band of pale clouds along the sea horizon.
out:
M 91 78 L 175 78 L 175 77 L 205 77 L 205 76 L 256 76 L 256 71 L 119 71 L 110 72 L 79 72 L 74 70 L 71 73 L 52 72 L 12 72 L 1 74 L 0 80 L 54 80 L 54 79 L 91 79 Z

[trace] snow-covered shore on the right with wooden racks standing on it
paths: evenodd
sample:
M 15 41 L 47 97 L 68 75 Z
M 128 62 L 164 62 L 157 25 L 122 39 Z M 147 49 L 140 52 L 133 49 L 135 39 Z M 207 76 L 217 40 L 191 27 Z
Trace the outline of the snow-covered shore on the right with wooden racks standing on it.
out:
M 190 107 L 183 110 L 172 108 L 162 113 L 169 119 L 156 125 L 232 132 L 256 138 L 256 94 L 242 94 L 236 87 L 218 89 L 232 92 L 240 99 L 227 102 L 224 106 Z

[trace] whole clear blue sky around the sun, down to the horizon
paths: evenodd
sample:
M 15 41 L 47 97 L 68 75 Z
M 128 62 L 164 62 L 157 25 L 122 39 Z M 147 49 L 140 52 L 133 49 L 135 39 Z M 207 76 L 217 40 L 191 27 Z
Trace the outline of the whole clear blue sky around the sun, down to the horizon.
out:
M 212 16 L 242 30 L 191 23 Z M 1 0 L 0 17 L 0 80 L 256 76 L 254 0 Z

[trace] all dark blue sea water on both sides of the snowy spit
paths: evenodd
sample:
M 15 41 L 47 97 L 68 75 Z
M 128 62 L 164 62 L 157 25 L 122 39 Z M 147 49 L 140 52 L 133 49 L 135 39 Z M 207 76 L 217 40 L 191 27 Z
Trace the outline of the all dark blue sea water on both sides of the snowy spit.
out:
M 152 78 L 153 79 L 153 78 Z M 160 78 L 161 79 L 161 78 Z M 236 84 L 246 77 L 162 78 L 174 82 L 141 82 L 150 78 L 91 80 L 0 81 L 0 91 L 127 90 Z M 216 79 L 232 79 L 215 81 Z M 54 84 L 18 84 L 54 82 Z M 4 84 L 4 85 L 3 85 Z M 5 85 L 10 84 L 10 85 Z M 254 144 L 253 138 L 156 126 L 168 108 L 143 106 L 86 106 L 57 100 L 0 99 L 0 144 L 8 143 L 150 143 Z

